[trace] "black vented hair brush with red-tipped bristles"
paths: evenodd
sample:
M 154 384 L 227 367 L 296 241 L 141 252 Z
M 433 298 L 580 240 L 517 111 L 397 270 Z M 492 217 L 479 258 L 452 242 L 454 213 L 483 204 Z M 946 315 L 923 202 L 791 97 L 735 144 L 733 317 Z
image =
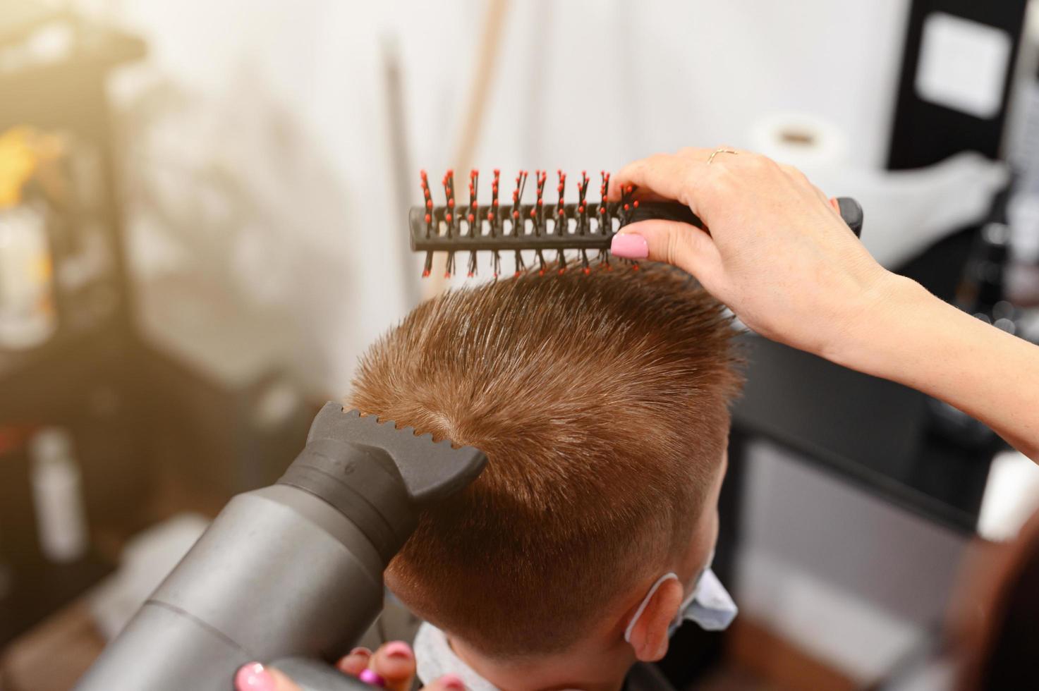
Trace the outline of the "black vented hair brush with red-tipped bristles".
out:
M 560 170 L 557 175 L 556 202 L 544 201 L 548 172 L 535 170 L 536 198 L 533 204 L 524 203 L 528 172 L 521 170 L 515 178 L 511 202 L 502 204 L 499 198 L 501 171 L 496 168 L 490 184 L 490 204 L 482 206 L 477 201 L 479 171 L 469 174 L 469 197 L 463 204 L 455 197 L 454 172 L 448 170 L 443 180 L 445 204 L 437 206 L 433 204 L 429 178 L 423 170 L 424 206 L 412 207 L 408 216 L 411 249 L 426 253 L 422 275 L 429 275 L 434 251 L 448 253 L 445 276 L 454 273 L 455 253 L 459 251 L 469 253 L 470 276 L 476 274 L 478 251 L 494 253 L 491 266 L 496 277 L 501 274 L 501 253 L 513 253 L 515 273 L 524 271 L 527 267 L 523 250 L 534 251 L 537 268 L 542 272 L 548 267 L 544 253 L 555 251 L 556 269 L 560 273 L 567 269 L 565 253 L 577 251 L 578 256 L 571 256 L 571 261 L 579 263 L 581 270 L 588 273 L 591 270 L 589 251 L 597 250 L 600 264 L 610 268 L 610 241 L 617 231 L 629 223 L 664 218 L 704 228 L 689 207 L 676 202 L 640 202 L 634 198 L 635 189 L 630 185 L 621 190 L 619 202 L 606 201 L 610 187 L 610 174 L 606 171 L 602 174 L 600 183 L 600 201 L 588 200 L 590 179 L 582 171 L 577 184 L 577 201 L 566 202 L 566 174 Z M 837 205 L 842 218 L 856 236 L 859 235 L 862 231 L 862 208 L 849 197 L 840 197 Z

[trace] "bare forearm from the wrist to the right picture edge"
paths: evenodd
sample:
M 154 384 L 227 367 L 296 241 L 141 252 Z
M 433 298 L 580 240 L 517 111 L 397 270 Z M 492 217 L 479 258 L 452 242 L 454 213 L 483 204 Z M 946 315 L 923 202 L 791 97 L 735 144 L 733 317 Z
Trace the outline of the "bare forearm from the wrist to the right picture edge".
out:
M 849 338 L 821 353 L 922 391 L 981 420 L 1039 462 L 1039 346 L 890 277 Z

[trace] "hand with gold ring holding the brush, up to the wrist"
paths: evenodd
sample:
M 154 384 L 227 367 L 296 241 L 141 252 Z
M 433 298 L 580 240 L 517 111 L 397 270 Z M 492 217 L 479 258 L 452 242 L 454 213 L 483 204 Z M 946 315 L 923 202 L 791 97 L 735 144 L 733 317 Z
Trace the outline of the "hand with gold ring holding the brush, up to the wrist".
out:
M 676 221 L 625 227 L 613 254 L 663 261 L 695 275 L 758 334 L 827 354 L 893 290 L 881 267 L 819 189 L 797 169 L 758 154 L 684 149 L 631 163 L 613 179 L 617 198 L 688 205 L 710 234 Z

